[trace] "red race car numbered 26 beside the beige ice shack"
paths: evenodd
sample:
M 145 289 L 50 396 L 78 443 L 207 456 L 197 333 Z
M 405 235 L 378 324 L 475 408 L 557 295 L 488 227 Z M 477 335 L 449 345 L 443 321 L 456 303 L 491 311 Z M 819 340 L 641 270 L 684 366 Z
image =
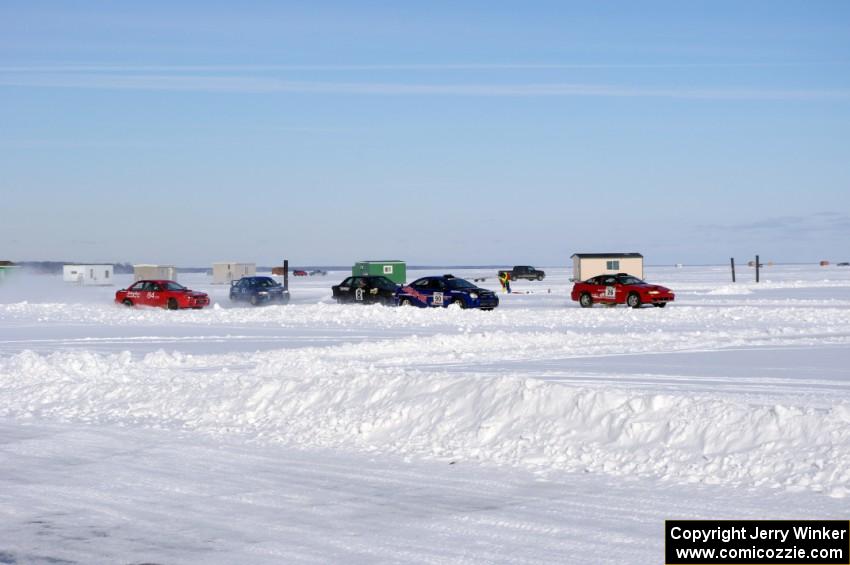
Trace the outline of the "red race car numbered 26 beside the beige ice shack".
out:
M 673 302 L 676 295 L 666 287 L 646 283 L 639 278 L 618 273 L 616 275 L 599 275 L 577 282 L 573 285 L 571 298 L 582 308 L 590 308 L 594 303 L 626 304 L 632 308 L 640 308 L 642 304 L 652 304 L 664 308 L 668 302 Z

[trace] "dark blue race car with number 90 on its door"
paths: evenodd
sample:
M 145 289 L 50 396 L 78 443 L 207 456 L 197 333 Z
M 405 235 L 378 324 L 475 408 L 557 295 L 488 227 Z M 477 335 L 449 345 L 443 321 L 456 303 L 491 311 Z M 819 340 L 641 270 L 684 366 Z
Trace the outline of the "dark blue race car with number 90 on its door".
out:
M 499 305 L 499 297 L 493 291 L 479 288 L 453 275 L 417 279 L 401 287 L 398 300 L 401 305 L 420 308 L 456 304 L 461 308 L 492 310 Z

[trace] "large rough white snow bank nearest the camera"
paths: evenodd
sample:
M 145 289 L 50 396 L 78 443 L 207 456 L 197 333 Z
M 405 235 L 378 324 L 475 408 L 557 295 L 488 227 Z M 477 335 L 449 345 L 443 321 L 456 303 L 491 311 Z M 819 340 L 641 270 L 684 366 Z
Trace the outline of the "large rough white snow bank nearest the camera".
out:
M 828 409 L 753 406 L 744 398 L 448 375 L 392 366 L 361 350 L 141 358 L 24 352 L 0 359 L 0 414 L 850 494 L 847 401 Z

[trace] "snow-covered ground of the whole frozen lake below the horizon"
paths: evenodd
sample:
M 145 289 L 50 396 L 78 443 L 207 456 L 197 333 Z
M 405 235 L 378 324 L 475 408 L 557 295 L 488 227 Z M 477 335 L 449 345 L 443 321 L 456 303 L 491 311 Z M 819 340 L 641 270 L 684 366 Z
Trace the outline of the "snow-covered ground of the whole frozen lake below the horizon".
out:
M 5 282 L 0 563 L 657 563 L 665 518 L 848 517 L 850 269 L 647 268 L 640 310 L 547 272 L 493 312 Z

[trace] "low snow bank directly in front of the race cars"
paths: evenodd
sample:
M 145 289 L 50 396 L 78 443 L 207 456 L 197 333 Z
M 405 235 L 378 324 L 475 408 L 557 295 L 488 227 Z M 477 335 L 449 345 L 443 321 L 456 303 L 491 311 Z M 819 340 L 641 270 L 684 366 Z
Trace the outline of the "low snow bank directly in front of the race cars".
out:
M 850 304 L 850 303 L 848 303 Z M 773 308 L 765 308 L 771 305 Z M 669 308 L 591 308 L 583 309 L 564 298 L 560 305 L 548 309 L 497 308 L 492 312 L 457 308 L 420 309 L 383 306 L 341 306 L 310 304 L 267 306 L 263 308 L 207 308 L 204 310 L 170 311 L 159 308 L 125 308 L 114 304 L 29 303 L 0 304 L 0 322 L 8 324 L 85 324 L 90 326 L 133 326 L 169 328 L 370 328 L 391 330 L 460 329 L 460 330 L 594 330 L 610 328 L 617 333 L 658 330 L 730 329 L 747 327 L 797 327 L 807 332 L 813 325 L 846 331 L 850 326 L 850 309 L 828 301 L 795 303 L 775 300 L 718 308 L 679 306 Z M 813 307 L 814 306 L 814 307 Z M 829 308 L 829 311 L 825 310 Z

